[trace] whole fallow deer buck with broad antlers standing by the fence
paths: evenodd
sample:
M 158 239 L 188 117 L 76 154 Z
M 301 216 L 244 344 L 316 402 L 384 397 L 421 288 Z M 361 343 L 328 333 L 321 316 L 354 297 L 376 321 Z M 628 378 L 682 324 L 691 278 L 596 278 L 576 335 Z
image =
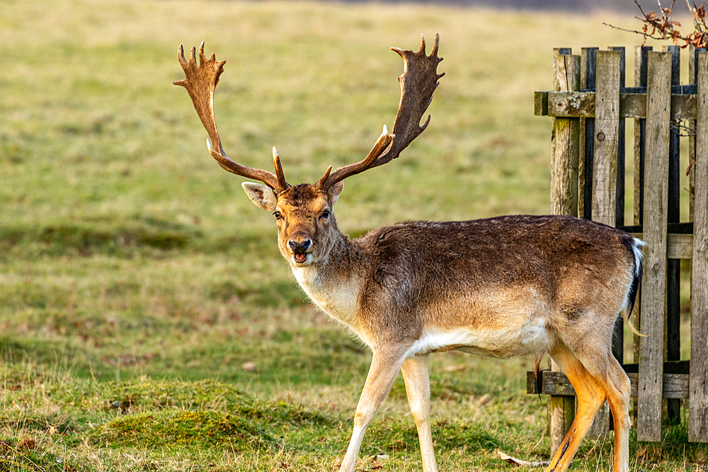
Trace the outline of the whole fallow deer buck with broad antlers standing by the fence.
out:
M 314 304 L 372 350 L 340 471 L 352 472 L 364 433 L 399 371 L 418 428 L 423 470 L 437 471 L 430 431 L 428 355 L 462 350 L 493 357 L 549 354 L 578 396 L 577 415 L 548 471 L 565 471 L 600 405 L 615 422 L 615 471 L 629 468 L 629 379 L 612 356 L 612 328 L 632 311 L 644 243 L 623 231 L 564 216 L 474 221 L 407 221 L 350 239 L 333 205 L 343 180 L 399 156 L 421 126 L 438 80 L 438 36 L 430 55 L 392 48 L 404 60 L 393 133 L 386 127 L 365 159 L 314 184 L 290 185 L 273 148 L 275 174 L 224 153 L 213 93 L 225 61 L 195 49 L 178 59 L 184 86 L 222 168 L 262 183 L 243 184 L 256 206 L 273 212 L 280 253 Z M 631 325 L 630 325 L 631 327 Z

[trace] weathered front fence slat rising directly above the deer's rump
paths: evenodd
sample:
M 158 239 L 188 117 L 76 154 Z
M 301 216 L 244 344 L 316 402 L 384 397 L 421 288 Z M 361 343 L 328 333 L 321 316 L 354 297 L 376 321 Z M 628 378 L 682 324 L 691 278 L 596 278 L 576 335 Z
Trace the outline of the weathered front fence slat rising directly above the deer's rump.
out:
M 598 51 L 595 96 L 593 221 L 615 225 L 619 133 L 619 52 Z

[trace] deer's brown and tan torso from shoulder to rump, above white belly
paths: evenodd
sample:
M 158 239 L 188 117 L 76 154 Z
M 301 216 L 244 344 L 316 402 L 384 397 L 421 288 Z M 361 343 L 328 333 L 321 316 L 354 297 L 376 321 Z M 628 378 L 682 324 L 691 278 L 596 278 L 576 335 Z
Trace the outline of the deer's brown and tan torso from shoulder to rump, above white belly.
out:
M 610 329 L 630 303 L 639 266 L 631 235 L 573 217 L 409 221 L 356 243 L 367 255 L 362 324 L 408 340 L 533 320 L 578 335 L 597 323 Z M 598 321 L 600 313 L 612 316 Z

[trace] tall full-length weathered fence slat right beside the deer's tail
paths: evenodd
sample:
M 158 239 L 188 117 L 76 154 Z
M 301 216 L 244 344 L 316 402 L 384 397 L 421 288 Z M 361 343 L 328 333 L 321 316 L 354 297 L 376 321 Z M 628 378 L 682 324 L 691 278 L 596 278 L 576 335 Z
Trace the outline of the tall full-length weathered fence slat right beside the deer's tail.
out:
M 666 225 L 668 202 L 668 146 L 671 108 L 671 56 L 650 52 L 646 97 L 646 156 L 644 185 L 644 241 L 646 251 L 641 290 L 639 342 L 639 412 L 637 440 L 661 441 L 664 319 L 666 316 Z

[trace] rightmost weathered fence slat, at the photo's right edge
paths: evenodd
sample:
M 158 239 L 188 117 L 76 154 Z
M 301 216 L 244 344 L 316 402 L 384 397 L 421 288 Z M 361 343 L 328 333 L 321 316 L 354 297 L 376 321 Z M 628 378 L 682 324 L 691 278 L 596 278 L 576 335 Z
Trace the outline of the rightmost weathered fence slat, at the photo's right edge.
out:
M 708 442 L 708 52 L 698 60 L 688 440 Z

